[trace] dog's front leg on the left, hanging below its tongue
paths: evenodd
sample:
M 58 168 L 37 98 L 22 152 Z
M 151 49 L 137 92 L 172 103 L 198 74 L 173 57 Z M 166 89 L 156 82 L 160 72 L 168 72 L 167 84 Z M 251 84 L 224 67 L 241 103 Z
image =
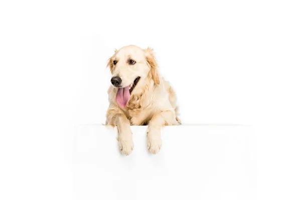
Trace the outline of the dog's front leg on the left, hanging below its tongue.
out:
M 133 135 L 130 130 L 130 122 L 123 113 L 114 113 L 108 111 L 107 123 L 117 126 L 118 146 L 124 155 L 128 155 L 134 147 Z

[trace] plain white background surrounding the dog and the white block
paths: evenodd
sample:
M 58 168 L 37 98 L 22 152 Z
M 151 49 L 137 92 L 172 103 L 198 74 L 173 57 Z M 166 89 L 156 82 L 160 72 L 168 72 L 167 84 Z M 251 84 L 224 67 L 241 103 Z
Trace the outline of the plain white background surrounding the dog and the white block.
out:
M 155 49 L 184 123 L 254 125 L 258 199 L 299 199 L 300 9 L 297 0 L 1 1 L 1 198 L 72 199 L 74 125 L 105 121 L 106 60 L 135 44 Z

